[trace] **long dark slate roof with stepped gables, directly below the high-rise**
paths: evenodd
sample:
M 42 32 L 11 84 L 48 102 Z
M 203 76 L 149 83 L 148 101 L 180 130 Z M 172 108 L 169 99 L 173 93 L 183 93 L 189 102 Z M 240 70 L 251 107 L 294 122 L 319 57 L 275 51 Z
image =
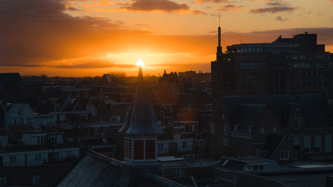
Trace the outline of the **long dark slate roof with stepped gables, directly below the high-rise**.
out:
M 301 95 L 261 95 L 261 96 L 224 96 L 223 106 L 229 119 L 234 119 L 236 104 L 265 104 L 276 112 L 276 117 L 282 124 L 287 122 L 290 107 L 298 102 L 305 116 L 305 123 L 309 128 L 333 127 L 332 120 L 320 94 Z M 292 104 L 292 105 L 290 105 Z M 320 117 L 318 117 L 320 116 Z

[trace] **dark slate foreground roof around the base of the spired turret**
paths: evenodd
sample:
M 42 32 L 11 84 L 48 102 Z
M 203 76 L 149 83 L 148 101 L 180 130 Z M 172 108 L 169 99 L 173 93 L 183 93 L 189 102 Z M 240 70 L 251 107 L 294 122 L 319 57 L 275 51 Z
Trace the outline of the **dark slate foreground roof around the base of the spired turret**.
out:
M 124 163 L 88 149 L 55 186 L 183 187 L 148 172 L 142 172 L 140 176 L 135 184 L 130 185 L 133 179 Z

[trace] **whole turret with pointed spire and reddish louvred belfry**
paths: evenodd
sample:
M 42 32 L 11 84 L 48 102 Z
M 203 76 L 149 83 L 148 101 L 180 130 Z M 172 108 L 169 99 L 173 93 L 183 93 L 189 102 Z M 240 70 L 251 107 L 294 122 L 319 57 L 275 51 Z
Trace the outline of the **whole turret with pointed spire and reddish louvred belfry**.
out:
M 118 132 L 124 136 L 125 168 L 122 172 L 131 175 L 129 186 L 134 185 L 135 179 L 140 178 L 143 172 L 159 175 L 156 145 L 157 137 L 163 132 L 157 125 L 154 109 L 149 102 L 141 66 L 133 101 Z

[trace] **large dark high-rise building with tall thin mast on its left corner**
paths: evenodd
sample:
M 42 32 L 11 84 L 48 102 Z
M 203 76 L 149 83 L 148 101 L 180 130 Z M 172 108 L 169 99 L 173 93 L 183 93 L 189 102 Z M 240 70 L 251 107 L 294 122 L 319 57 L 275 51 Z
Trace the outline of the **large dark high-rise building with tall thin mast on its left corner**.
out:
M 295 35 L 272 43 L 220 46 L 211 62 L 212 97 L 226 91 L 256 95 L 333 93 L 333 55 L 317 44 L 317 34 Z

